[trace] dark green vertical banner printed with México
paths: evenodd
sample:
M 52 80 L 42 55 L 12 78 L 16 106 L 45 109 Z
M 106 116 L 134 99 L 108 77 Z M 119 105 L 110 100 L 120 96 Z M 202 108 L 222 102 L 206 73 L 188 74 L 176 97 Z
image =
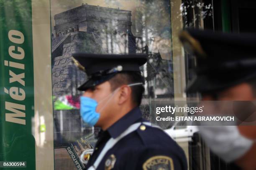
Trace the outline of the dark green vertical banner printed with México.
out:
M 36 169 L 31 8 L 0 0 L 0 161 L 26 161 L 19 170 Z

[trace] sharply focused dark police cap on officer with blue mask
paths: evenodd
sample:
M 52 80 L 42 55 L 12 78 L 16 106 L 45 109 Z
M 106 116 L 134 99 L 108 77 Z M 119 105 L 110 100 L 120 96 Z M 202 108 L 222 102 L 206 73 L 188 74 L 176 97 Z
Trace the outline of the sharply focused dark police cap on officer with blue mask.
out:
M 77 88 L 85 91 L 123 71 L 141 74 L 139 67 L 146 63 L 147 55 L 73 53 L 72 59 L 74 64 L 88 76 L 88 80 Z

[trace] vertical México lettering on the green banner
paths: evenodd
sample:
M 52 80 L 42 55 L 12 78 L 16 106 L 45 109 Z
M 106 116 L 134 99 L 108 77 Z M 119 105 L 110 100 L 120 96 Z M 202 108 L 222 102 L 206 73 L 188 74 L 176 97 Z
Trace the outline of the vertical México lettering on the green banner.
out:
M 23 87 L 25 87 L 25 81 L 23 80 L 25 78 L 25 65 L 22 63 L 25 57 L 25 52 L 23 48 L 19 46 L 24 43 L 24 35 L 18 30 L 10 30 L 8 38 L 12 45 L 9 46 L 8 49 L 10 57 L 8 60 L 4 61 L 4 65 L 9 69 L 8 74 L 10 88 L 8 89 L 4 87 L 4 92 L 9 94 L 15 101 L 20 102 L 24 101 L 26 98 L 26 93 L 23 90 Z M 13 86 L 13 84 L 16 86 Z M 5 101 L 5 110 L 9 111 L 9 113 L 5 113 L 5 121 L 17 124 L 26 124 L 25 104 Z

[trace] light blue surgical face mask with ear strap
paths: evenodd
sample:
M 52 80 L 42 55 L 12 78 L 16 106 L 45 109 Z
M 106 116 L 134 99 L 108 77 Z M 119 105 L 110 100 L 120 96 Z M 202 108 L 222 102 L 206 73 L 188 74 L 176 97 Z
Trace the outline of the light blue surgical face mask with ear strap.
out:
M 134 83 L 134 84 L 128 84 L 128 86 L 137 86 L 142 85 L 142 83 Z M 114 94 L 118 91 L 119 88 L 115 89 L 112 93 L 110 93 L 108 96 L 106 96 L 101 101 L 97 102 L 94 99 L 91 99 L 90 97 L 81 96 L 80 97 L 80 115 L 84 121 L 85 124 L 87 124 L 90 127 L 93 127 L 98 120 L 100 119 L 100 112 L 108 105 L 109 101 L 113 98 Z M 98 104 L 100 104 L 102 101 L 105 101 L 105 99 L 108 99 L 108 101 L 105 103 L 105 105 L 100 109 L 99 113 L 96 112 L 96 108 Z

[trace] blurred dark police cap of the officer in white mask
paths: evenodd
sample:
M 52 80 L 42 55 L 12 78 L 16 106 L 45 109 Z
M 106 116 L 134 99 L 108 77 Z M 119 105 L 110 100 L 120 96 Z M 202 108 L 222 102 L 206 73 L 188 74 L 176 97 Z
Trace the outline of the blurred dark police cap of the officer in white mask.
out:
M 220 91 L 256 78 L 256 34 L 188 29 L 179 38 L 197 60 L 187 92 Z

